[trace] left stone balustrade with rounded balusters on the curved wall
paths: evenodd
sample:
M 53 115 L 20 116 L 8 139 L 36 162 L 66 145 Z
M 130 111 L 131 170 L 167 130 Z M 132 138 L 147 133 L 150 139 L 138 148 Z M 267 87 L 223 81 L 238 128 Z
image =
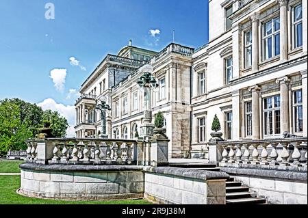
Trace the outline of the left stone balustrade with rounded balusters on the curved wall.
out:
M 135 140 L 47 138 L 26 144 L 29 163 L 133 165 L 138 158 Z

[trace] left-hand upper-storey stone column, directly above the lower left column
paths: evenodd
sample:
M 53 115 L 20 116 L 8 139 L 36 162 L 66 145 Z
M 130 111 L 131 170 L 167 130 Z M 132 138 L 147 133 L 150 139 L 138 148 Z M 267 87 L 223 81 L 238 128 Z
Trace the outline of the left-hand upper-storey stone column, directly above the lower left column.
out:
M 254 13 L 250 16 L 252 23 L 252 36 L 253 36 L 253 45 L 252 45 L 252 69 L 253 72 L 259 70 L 259 14 Z

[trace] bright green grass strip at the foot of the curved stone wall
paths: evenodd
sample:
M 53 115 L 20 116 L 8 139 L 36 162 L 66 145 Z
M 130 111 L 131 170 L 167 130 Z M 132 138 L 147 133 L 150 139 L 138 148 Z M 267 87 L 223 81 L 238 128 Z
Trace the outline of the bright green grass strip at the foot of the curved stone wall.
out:
M 19 187 L 21 187 L 20 176 L 0 176 L 0 204 L 151 204 L 146 200 L 62 201 L 36 199 L 18 195 L 16 190 Z

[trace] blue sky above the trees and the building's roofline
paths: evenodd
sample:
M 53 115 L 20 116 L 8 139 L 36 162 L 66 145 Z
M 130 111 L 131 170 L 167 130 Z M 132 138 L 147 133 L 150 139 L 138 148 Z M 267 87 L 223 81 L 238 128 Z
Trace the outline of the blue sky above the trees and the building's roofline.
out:
M 54 20 L 44 16 L 49 2 L 55 5 Z M 116 54 L 129 39 L 160 51 L 172 42 L 175 29 L 179 44 L 207 43 L 207 8 L 207 0 L 0 0 L 0 99 L 42 103 L 51 98 L 73 105 L 69 90 L 79 90 L 103 57 Z M 150 29 L 159 34 L 151 36 Z M 60 89 L 51 78 L 53 69 L 66 69 Z

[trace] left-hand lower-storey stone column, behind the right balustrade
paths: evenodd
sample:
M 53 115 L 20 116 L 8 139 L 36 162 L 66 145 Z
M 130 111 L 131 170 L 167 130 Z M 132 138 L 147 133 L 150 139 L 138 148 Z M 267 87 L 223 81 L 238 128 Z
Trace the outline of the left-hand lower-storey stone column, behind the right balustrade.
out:
M 253 87 L 249 87 L 249 92 L 252 92 L 252 105 L 253 105 L 253 140 L 260 139 L 260 105 L 259 105 L 259 94 L 260 87 L 259 85 L 255 85 Z

